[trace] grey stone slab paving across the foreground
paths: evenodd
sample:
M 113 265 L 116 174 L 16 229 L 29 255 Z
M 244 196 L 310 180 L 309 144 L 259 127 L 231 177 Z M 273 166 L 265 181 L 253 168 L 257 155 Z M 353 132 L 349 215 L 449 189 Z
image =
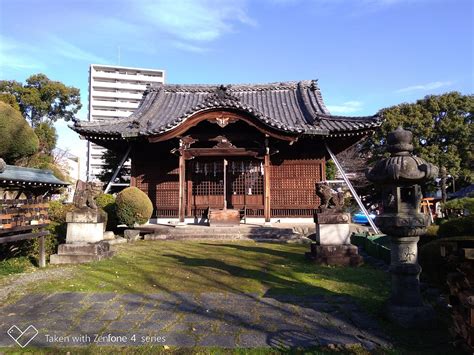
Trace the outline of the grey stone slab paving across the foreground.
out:
M 168 345 L 225 348 L 360 344 L 389 347 L 377 322 L 344 296 L 229 293 L 56 293 L 0 307 L 0 346 Z M 13 328 L 16 326 L 17 328 Z

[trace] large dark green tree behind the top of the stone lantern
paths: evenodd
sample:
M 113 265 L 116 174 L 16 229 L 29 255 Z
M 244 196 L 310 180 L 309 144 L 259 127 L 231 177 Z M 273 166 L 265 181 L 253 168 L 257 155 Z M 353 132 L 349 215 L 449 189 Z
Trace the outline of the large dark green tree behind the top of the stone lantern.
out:
M 414 153 L 465 185 L 474 180 L 474 95 L 449 92 L 429 95 L 416 103 L 403 103 L 380 111 L 381 129 L 366 141 L 372 159 L 383 155 L 385 137 L 402 125 L 413 132 Z

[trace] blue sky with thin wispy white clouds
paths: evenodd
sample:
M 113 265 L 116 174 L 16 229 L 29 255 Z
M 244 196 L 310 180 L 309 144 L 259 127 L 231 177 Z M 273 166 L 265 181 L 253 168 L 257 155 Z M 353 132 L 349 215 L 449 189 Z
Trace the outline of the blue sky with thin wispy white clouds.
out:
M 168 83 L 319 79 L 333 114 L 367 115 L 472 93 L 473 11 L 472 0 L 0 0 L 0 78 L 41 72 L 80 88 L 81 119 L 91 63 L 164 69 Z M 57 127 L 59 146 L 83 157 Z

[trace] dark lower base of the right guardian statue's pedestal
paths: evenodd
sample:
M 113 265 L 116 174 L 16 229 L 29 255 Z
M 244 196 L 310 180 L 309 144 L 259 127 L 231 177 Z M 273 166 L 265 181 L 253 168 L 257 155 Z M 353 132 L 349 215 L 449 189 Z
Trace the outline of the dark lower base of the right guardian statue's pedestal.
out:
M 359 266 L 363 258 L 355 245 L 320 245 L 311 243 L 311 251 L 306 257 L 320 265 Z

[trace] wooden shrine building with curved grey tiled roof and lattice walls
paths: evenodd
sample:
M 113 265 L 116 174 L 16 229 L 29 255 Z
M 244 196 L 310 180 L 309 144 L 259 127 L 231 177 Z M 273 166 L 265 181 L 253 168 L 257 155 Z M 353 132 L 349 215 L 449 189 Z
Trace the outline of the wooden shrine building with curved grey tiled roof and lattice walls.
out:
M 326 144 L 337 154 L 380 124 L 377 115 L 331 115 L 313 80 L 153 84 L 128 118 L 72 129 L 129 152 L 131 186 L 148 194 L 158 220 L 199 221 L 227 210 L 269 222 L 313 218 Z

